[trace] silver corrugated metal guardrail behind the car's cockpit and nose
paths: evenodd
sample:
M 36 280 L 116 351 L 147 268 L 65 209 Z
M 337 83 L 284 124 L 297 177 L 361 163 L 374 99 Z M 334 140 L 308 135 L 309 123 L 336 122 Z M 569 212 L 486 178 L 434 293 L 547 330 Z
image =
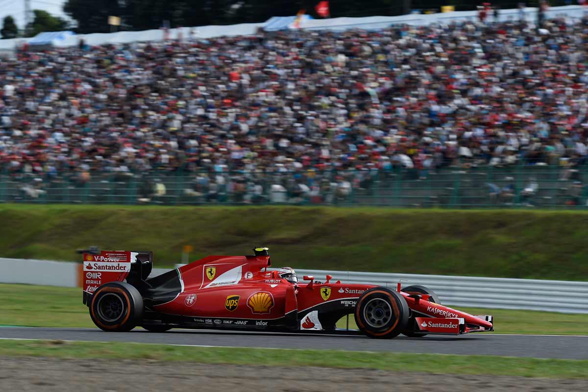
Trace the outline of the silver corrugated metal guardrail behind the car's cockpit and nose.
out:
M 299 277 L 312 275 L 323 282 L 326 274 L 343 283 L 372 283 L 396 287 L 420 284 L 435 290 L 444 304 L 496 309 L 588 313 L 588 282 L 507 279 L 399 273 L 296 270 Z

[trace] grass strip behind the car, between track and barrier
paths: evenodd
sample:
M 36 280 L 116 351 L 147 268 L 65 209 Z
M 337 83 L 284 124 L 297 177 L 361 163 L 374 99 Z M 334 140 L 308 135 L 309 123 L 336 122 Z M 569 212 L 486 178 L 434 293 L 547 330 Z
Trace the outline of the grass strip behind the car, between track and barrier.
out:
M 471 314 L 492 314 L 496 333 L 576 335 L 586 334 L 588 325 L 588 314 L 459 309 Z M 0 284 L 0 325 L 94 327 L 88 308 L 82 304 L 81 289 L 28 284 Z M 345 325 L 343 318 L 339 327 Z M 353 316 L 349 317 L 349 327 L 356 328 Z

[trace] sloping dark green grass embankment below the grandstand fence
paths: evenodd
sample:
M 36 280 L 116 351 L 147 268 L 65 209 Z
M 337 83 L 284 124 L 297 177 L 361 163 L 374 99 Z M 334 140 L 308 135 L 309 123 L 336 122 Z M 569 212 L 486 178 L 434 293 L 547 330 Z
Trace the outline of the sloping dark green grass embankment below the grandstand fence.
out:
M 156 266 L 269 246 L 277 266 L 588 280 L 588 212 L 377 207 L 0 206 L 0 256 L 153 250 Z

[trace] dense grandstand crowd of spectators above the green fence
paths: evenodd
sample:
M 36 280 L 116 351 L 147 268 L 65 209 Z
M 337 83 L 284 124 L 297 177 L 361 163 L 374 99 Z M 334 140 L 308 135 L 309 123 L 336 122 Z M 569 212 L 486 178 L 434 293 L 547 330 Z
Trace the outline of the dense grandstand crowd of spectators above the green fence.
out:
M 551 19 L 24 48 L 0 59 L 0 165 L 81 181 L 578 165 L 587 42 L 586 19 Z

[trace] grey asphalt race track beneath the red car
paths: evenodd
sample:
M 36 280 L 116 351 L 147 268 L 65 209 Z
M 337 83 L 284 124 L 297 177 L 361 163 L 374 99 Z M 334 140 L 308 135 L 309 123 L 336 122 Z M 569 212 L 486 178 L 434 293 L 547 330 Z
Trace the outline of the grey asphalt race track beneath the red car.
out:
M 126 333 L 92 328 L 0 328 L 0 339 L 122 341 L 185 346 L 263 347 L 275 349 L 334 349 L 396 353 L 479 354 L 509 357 L 588 359 L 588 336 L 469 334 L 462 336 L 399 336 L 391 340 L 363 336 L 260 333 L 212 330 L 171 330 Z

